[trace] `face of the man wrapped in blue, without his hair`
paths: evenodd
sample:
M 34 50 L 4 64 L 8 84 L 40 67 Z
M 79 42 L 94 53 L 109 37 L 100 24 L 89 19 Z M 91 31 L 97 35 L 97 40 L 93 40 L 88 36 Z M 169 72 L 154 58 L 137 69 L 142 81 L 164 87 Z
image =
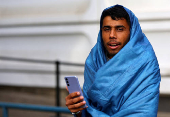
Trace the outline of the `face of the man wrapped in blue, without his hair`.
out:
M 129 41 L 130 26 L 126 19 L 113 20 L 110 16 L 103 19 L 102 39 L 108 58 L 117 54 Z

